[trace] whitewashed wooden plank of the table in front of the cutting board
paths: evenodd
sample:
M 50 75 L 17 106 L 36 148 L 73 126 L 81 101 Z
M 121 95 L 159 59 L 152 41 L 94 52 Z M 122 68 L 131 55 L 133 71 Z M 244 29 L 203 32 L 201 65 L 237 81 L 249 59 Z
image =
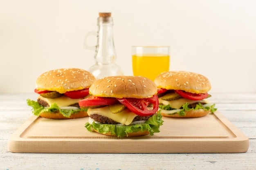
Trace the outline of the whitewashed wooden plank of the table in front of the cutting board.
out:
M 254 170 L 256 165 L 256 140 L 250 140 L 246 153 L 238 154 L 13 154 L 7 152 L 7 140 L 0 140 L 0 145 L 4 170 Z

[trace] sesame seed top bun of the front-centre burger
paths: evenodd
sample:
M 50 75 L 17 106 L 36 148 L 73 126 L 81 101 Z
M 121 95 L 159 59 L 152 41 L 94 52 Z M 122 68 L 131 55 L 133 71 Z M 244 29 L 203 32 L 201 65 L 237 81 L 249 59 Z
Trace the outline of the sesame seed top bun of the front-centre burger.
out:
M 95 81 L 89 93 L 98 97 L 149 98 L 157 94 L 155 83 L 140 76 L 111 76 Z

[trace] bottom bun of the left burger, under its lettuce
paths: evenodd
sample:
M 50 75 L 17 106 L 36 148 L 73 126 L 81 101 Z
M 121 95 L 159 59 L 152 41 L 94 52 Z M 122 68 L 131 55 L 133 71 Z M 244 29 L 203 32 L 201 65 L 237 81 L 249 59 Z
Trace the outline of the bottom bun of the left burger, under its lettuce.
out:
M 71 114 L 70 117 L 65 117 L 61 113 L 50 113 L 50 112 L 43 112 L 40 113 L 40 117 L 45 117 L 48 119 L 76 119 L 81 117 L 87 117 L 88 114 L 85 111 L 80 111 L 76 114 Z

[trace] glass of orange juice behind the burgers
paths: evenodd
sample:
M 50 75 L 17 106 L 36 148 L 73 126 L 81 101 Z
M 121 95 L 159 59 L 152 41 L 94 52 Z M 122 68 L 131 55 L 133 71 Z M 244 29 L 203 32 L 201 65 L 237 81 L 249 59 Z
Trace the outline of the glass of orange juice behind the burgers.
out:
M 170 46 L 132 46 L 133 75 L 154 81 L 164 71 L 169 71 Z

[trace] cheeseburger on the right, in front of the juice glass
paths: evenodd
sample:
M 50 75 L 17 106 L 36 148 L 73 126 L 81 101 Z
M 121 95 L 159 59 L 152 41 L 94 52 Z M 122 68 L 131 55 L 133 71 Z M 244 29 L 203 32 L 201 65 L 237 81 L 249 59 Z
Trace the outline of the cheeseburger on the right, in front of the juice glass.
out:
M 167 71 L 155 80 L 159 110 L 164 117 L 203 117 L 215 112 L 207 100 L 211 84 L 207 77 L 186 71 Z

